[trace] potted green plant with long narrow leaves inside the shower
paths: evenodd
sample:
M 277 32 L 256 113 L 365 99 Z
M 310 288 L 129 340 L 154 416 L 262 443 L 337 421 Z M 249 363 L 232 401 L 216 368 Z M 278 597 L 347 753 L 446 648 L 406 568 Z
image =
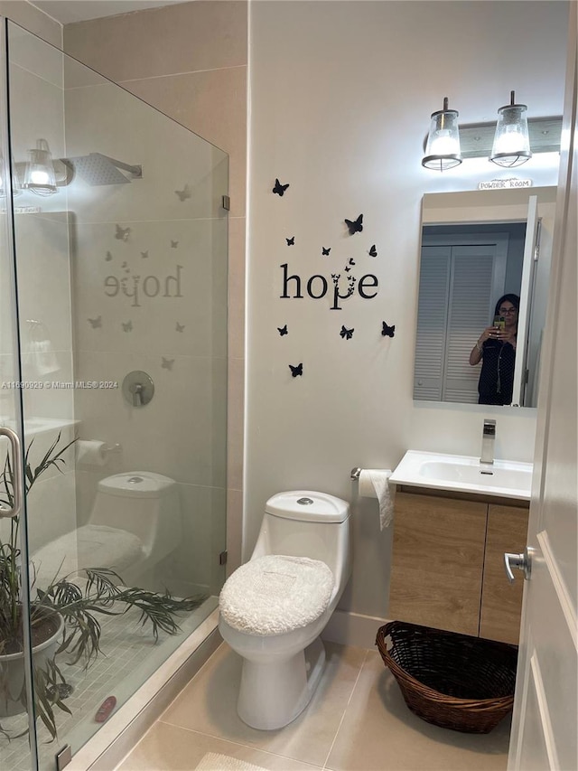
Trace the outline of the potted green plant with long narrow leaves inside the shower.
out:
M 24 488 L 28 495 L 33 484 L 49 468 L 62 473 L 64 454 L 74 445 L 72 439 L 64 447 L 61 434 L 51 444 L 38 465 L 30 463 L 31 441 L 24 456 Z M 0 475 L 0 505 L 12 508 L 14 503 L 14 471 L 9 456 Z M 11 659 L 17 658 L 23 672 L 23 583 L 20 550 L 20 517 L 9 522 L 0 520 L 0 715 L 14 715 L 27 709 L 22 673 L 14 693 L 14 680 L 9 688 Z M 83 574 L 79 578 L 79 572 Z M 101 626 L 98 616 L 122 616 L 131 609 L 140 612 L 139 623 L 151 629 L 154 640 L 160 633 L 175 635 L 180 631 L 176 616 L 200 606 L 206 597 L 172 597 L 142 588 L 127 588 L 122 578 L 111 569 L 82 569 L 74 577 L 54 577 L 48 586 L 36 586 L 36 571 L 30 561 L 31 584 L 30 629 L 33 647 L 42 645 L 57 633 L 54 652 L 41 663 L 33 661 L 34 710 L 46 726 L 51 738 L 57 737 L 55 708 L 71 714 L 62 700 L 68 683 L 56 663 L 56 656 L 68 654 L 67 663 L 83 663 L 88 669 L 101 653 Z M 63 628 L 62 627 L 63 622 Z M 58 634 L 60 633 L 60 634 Z M 17 654 L 14 656 L 14 654 Z M 14 702 L 18 702 L 14 709 Z M 12 705 L 12 706 L 11 706 Z M 23 736 L 23 733 L 18 736 Z M 0 734 L 10 736 L 0 719 Z

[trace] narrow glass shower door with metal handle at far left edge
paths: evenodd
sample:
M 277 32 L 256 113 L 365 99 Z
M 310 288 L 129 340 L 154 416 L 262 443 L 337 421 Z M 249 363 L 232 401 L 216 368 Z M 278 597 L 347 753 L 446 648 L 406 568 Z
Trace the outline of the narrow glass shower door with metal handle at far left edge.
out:
M 12 221 L 11 165 L 7 111 L 7 61 L 5 58 L 6 28 L 0 19 L 0 768 L 33 768 L 36 730 L 32 716 L 26 710 L 30 702 L 32 669 L 30 625 L 26 609 L 27 585 L 19 580 L 22 563 L 25 515 L 16 512 L 14 498 L 14 432 L 22 436 L 22 381 L 18 344 L 18 309 L 14 276 L 14 230 Z M 12 439 L 12 441 L 11 441 Z M 17 439 L 16 439 L 17 440 Z M 18 453 L 22 459 L 22 453 Z M 22 502 L 25 505 L 25 501 Z M 24 732 L 30 729 L 22 743 L 10 742 L 5 729 L 14 723 L 14 715 Z M 15 746 L 18 744 L 18 746 Z

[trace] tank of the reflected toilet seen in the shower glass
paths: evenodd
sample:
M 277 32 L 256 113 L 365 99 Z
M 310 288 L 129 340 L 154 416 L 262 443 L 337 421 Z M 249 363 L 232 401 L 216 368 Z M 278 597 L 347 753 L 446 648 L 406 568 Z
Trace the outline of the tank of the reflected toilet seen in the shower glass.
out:
M 181 538 L 181 506 L 174 479 L 151 471 L 130 471 L 98 482 L 90 524 L 134 533 L 144 556 L 159 559 Z

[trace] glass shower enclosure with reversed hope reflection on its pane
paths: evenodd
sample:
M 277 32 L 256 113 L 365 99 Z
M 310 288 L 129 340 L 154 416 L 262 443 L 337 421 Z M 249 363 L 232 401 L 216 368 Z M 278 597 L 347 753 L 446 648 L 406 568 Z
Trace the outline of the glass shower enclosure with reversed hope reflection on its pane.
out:
M 6 710 L 0 639 L 0 767 L 27 771 L 59 767 L 67 745 L 74 754 L 106 719 L 103 703 L 122 706 L 217 606 L 226 549 L 228 156 L 1 22 L 4 479 L 20 460 L 24 489 L 54 443 L 52 456 L 71 443 L 63 463 L 34 481 L 16 519 L 0 512 L 0 549 L 19 522 L 24 600 L 16 709 Z M 113 475 L 123 476 L 109 507 L 110 483 L 100 483 Z M 135 485 L 150 479 L 135 504 Z M 156 503 L 166 489 L 170 516 L 165 498 Z M 2 489 L 0 499 L 5 510 Z M 108 517 L 100 542 L 97 509 Z M 6 551 L 0 581 L 2 559 Z M 137 611 L 101 616 L 101 653 L 88 668 L 70 653 L 50 654 L 67 687 L 47 697 L 33 674 L 30 604 L 44 581 L 66 572 L 82 588 L 83 569 L 98 567 L 117 569 L 121 588 L 168 590 L 200 605 L 176 619 L 177 635 L 157 641 Z M 53 739 L 38 709 L 46 698 Z

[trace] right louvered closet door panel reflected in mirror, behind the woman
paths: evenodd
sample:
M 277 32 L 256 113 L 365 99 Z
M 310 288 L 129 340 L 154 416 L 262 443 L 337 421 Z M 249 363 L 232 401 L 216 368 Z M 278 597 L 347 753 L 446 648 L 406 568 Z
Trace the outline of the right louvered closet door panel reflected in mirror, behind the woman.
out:
M 491 319 L 496 247 L 452 247 L 450 312 L 444 362 L 443 401 L 478 401 L 480 366 L 471 367 L 471 348 Z

